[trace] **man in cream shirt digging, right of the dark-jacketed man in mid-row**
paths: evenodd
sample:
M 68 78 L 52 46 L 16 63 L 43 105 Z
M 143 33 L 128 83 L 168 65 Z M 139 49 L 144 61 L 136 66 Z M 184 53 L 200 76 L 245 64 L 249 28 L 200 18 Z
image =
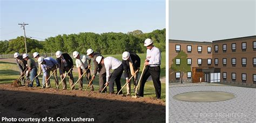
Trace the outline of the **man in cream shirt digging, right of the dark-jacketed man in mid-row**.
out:
M 88 67 L 87 60 L 91 62 L 89 56 L 80 56 L 79 52 L 73 52 L 73 58 L 76 58 L 76 67 L 78 70 L 79 78 L 82 77 L 83 71 L 85 72 L 87 82 L 91 80 L 91 71 L 90 67 Z M 79 80 L 79 90 L 83 90 L 83 77 Z M 91 84 L 91 91 L 94 91 L 93 85 Z

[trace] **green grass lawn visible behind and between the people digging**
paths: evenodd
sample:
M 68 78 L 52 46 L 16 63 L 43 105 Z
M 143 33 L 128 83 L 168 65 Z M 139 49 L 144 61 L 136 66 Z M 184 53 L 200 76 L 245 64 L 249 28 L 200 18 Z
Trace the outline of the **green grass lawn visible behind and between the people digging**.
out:
M 141 57 L 144 54 L 139 54 L 139 55 Z M 120 57 L 121 55 L 113 55 L 113 56 L 118 58 L 118 56 Z M 164 56 L 164 54 L 162 54 L 162 56 Z M 122 57 L 120 57 L 120 58 L 122 58 Z M 143 58 L 143 57 L 141 57 L 141 58 Z M 165 66 L 165 60 L 163 60 L 163 59 L 162 59 L 162 65 Z M 163 70 L 161 72 L 165 72 L 165 71 Z M 12 81 L 14 81 L 15 79 L 18 79 L 18 77 L 19 77 L 19 72 L 18 72 L 18 67 L 16 64 L 0 61 L 0 84 L 12 83 Z M 78 80 L 78 73 L 73 73 L 73 77 L 76 82 Z M 60 82 L 59 72 L 58 72 L 58 80 Z M 95 87 L 95 91 L 98 91 L 98 88 L 99 88 L 98 80 L 99 80 L 98 76 L 96 76 L 96 79 L 93 81 L 93 86 Z M 39 81 L 42 86 L 42 74 L 41 74 L 41 76 L 39 76 Z M 53 77 L 51 77 L 50 81 L 51 81 L 51 87 L 55 87 Z M 67 81 L 68 89 L 70 89 L 68 77 L 66 78 L 66 81 Z M 87 87 L 87 81 L 86 81 L 85 77 L 83 78 L 83 82 L 84 82 L 83 90 L 85 90 L 85 88 Z M 36 84 L 35 80 L 34 80 L 33 84 L 35 86 L 35 84 Z M 123 86 L 124 84 L 125 84 L 125 79 L 122 79 L 121 85 Z M 131 84 L 131 86 L 133 86 L 133 84 Z M 62 88 L 62 84 L 60 84 L 60 88 Z M 75 88 L 78 88 L 78 84 L 75 86 Z M 109 90 L 108 87 L 107 87 L 107 90 Z M 114 90 L 116 92 L 116 86 L 114 87 Z M 133 91 L 133 88 L 131 91 Z M 123 92 L 126 93 L 126 87 L 124 87 Z M 134 95 L 134 93 L 132 93 L 132 95 Z M 165 100 L 165 96 L 166 96 L 165 95 L 165 83 L 162 83 L 161 84 L 161 99 Z M 144 97 L 156 97 L 152 81 L 147 81 L 145 88 L 144 88 Z

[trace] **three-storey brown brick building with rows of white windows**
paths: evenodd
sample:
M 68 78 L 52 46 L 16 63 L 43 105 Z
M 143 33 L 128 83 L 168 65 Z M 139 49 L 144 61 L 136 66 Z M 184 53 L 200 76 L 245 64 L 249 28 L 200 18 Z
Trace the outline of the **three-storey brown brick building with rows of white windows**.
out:
M 186 64 L 185 64 L 186 63 Z M 169 40 L 169 81 L 256 84 L 256 36 L 191 42 Z

